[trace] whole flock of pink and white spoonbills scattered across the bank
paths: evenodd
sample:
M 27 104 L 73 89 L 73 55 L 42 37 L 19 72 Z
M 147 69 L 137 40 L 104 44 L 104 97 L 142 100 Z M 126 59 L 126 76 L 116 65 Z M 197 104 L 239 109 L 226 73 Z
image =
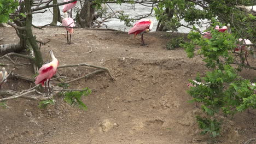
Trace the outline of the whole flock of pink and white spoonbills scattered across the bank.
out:
M 68 2 L 71 0 L 64 0 L 64 2 Z M 68 3 L 63 5 L 63 13 L 65 13 L 65 19 L 62 20 L 62 26 L 66 28 L 67 30 L 67 43 L 71 44 L 71 34 L 74 32 L 73 27 L 75 26 L 74 24 L 74 20 L 71 17 L 68 17 L 68 10 L 71 10 L 72 8 L 75 7 L 75 5 L 77 4 L 77 1 L 72 2 L 72 3 Z M 128 34 L 134 34 L 134 38 L 136 38 L 137 34 L 141 34 L 141 42 L 142 45 L 145 45 L 144 40 L 143 40 L 143 34 L 147 33 L 149 31 L 151 31 L 153 28 L 153 22 L 149 19 L 142 19 L 139 20 L 135 23 L 135 25 L 130 29 L 130 31 L 128 32 Z M 224 26 L 222 28 L 219 28 L 219 26 L 216 26 L 215 28 L 216 30 L 218 30 L 219 32 L 225 32 L 226 30 L 228 30 L 229 33 L 231 33 L 230 30 L 230 25 L 228 25 L 227 27 Z M 68 33 L 70 33 L 70 37 L 68 39 Z M 203 34 L 204 38 L 207 39 L 211 39 L 211 33 L 210 32 L 205 32 Z M 245 48 L 245 44 L 252 44 L 250 40 L 248 39 L 238 39 L 239 41 L 243 41 L 243 45 L 237 45 L 237 48 L 235 49 L 235 51 L 239 51 L 239 50 L 244 50 L 247 51 L 248 49 Z M 51 58 L 53 59 L 53 61 L 51 61 L 50 63 L 44 64 L 39 70 L 38 70 L 38 76 L 35 78 L 36 81 L 36 85 L 38 85 L 39 83 L 44 86 L 44 83 L 47 82 L 46 84 L 48 85 L 48 88 L 46 88 L 45 86 L 45 91 L 49 91 L 50 90 L 50 86 L 49 86 L 49 82 L 51 77 L 53 77 L 56 74 L 57 71 L 57 67 L 59 65 L 59 62 L 57 60 L 57 58 L 54 56 L 54 53 L 52 50 L 49 51 Z M 7 72 L 5 71 L 5 68 L 2 68 L 2 71 L 0 71 L 0 88 L 2 86 L 2 83 L 6 81 L 5 77 L 7 76 Z M 196 82 L 196 85 L 208 85 L 209 83 L 203 84 L 201 82 Z M 189 87 L 194 87 L 195 85 L 193 85 L 192 83 L 188 84 Z

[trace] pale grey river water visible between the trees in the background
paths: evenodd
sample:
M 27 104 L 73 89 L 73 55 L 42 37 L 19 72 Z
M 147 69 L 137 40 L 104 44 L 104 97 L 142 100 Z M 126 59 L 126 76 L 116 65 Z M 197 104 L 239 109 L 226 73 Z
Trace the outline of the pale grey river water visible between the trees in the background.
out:
M 60 3 L 63 1 L 59 0 L 58 2 Z M 80 6 L 79 1 L 78 1 L 77 5 Z M 135 4 L 134 8 L 131 7 L 131 4 L 122 4 L 122 5 L 109 4 L 109 6 L 112 8 L 113 11 L 123 10 L 125 14 L 128 14 L 131 17 L 135 17 L 137 15 L 147 15 L 151 11 L 151 7 L 144 7 L 141 4 Z M 62 5 L 60 6 L 60 10 L 61 10 L 61 15 L 63 16 L 64 14 L 62 12 Z M 111 10 L 108 8 L 108 11 L 111 11 Z M 53 19 L 53 14 L 51 14 L 51 12 L 53 12 L 53 8 L 47 9 L 47 11 L 43 14 L 42 13 L 34 14 L 33 15 L 33 25 L 43 26 L 43 25 L 49 24 Z M 154 11 L 153 11 L 153 15 L 154 15 Z M 74 14 L 73 14 L 73 16 L 74 16 Z M 149 17 L 149 19 L 151 19 L 154 22 L 152 31 L 155 31 L 158 21 L 155 19 L 154 16 Z M 126 27 L 124 25 L 124 22 L 121 22 L 119 19 L 110 19 L 110 20 L 111 21 L 105 23 L 108 26 L 108 28 L 118 29 L 120 31 L 126 31 L 126 32 L 129 31 L 130 27 Z M 185 23 L 184 21 L 181 21 L 181 23 L 183 25 L 187 25 L 187 23 Z M 58 23 L 57 25 L 61 25 L 61 23 Z M 181 33 L 189 33 L 190 30 L 191 29 L 186 28 L 186 27 L 178 28 L 178 32 L 181 32 Z M 203 31 L 203 30 L 205 30 L 205 28 L 200 28 L 200 30 Z

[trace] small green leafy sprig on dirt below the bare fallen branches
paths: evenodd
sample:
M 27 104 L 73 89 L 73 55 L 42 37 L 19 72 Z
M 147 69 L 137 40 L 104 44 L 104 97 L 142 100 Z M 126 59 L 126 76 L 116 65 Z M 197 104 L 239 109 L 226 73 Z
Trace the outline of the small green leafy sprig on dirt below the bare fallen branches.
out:
M 87 106 L 81 100 L 82 96 L 87 96 L 91 93 L 91 89 L 85 88 L 84 91 L 72 91 L 63 93 L 64 100 L 70 105 L 77 105 L 80 109 L 86 110 Z

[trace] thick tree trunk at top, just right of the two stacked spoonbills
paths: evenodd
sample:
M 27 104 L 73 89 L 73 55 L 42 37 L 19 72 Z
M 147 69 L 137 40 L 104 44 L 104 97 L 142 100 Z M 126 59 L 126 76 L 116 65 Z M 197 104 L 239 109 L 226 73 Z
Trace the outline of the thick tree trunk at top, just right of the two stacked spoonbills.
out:
M 91 21 L 94 18 L 95 8 L 93 8 L 92 2 L 86 0 L 82 7 L 80 14 L 78 16 L 78 26 L 79 27 L 91 27 Z

